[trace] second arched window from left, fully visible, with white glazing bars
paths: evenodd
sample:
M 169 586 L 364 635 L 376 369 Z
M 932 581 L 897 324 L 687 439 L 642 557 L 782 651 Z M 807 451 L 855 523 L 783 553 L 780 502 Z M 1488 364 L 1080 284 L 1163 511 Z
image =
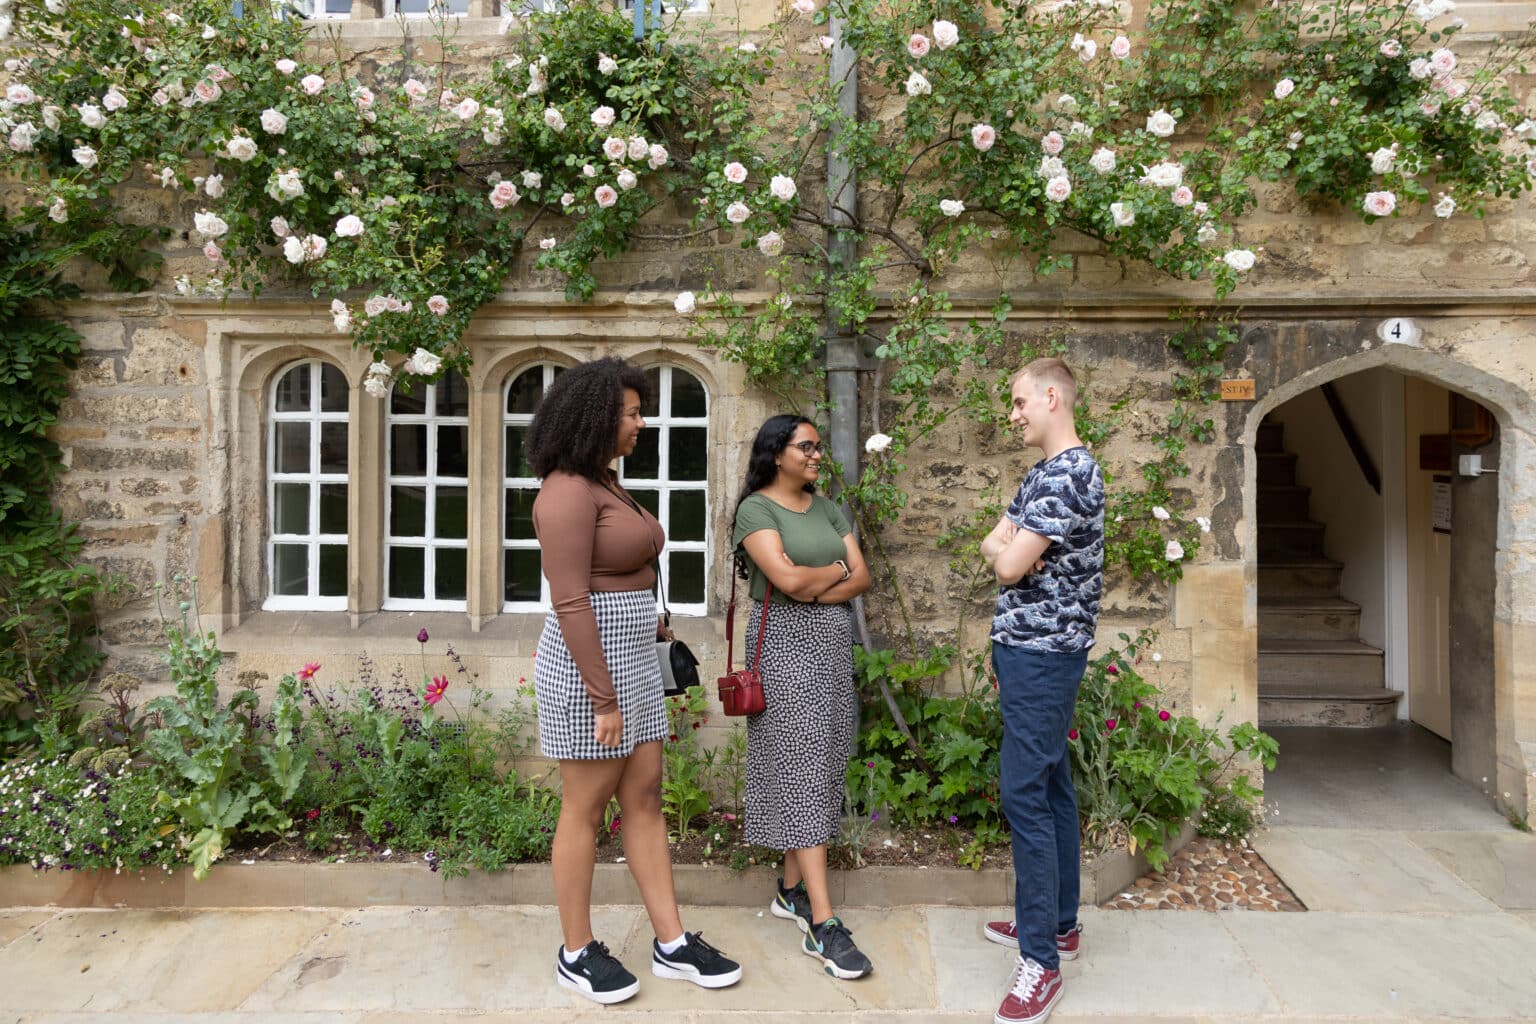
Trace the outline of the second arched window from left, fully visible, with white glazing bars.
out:
M 462 611 L 470 508 L 470 388 L 445 372 L 389 399 L 384 606 Z

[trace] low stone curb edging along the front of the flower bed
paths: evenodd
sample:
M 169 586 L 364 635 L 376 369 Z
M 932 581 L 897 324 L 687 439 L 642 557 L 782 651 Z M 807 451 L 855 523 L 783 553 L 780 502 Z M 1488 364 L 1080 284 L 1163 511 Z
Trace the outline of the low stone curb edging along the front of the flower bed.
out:
M 1170 852 L 1193 835 L 1184 831 Z M 1124 851 L 1083 864 L 1083 903 L 1098 904 L 1149 870 L 1146 858 Z M 774 872 L 750 867 L 677 864 L 673 867 L 677 901 L 690 906 L 756 906 L 766 903 Z M 1012 870 L 988 867 L 862 867 L 831 872 L 836 906 L 895 907 L 914 904 L 1008 906 L 1014 901 Z M 639 903 L 624 864 L 598 864 L 594 906 Z M 367 907 L 367 906 L 504 906 L 553 904 L 548 864 L 513 864 L 495 874 L 470 872 L 444 878 L 425 864 L 300 864 L 224 861 L 197 881 L 190 870 L 115 874 L 109 870 L 34 870 L 26 864 L 0 867 L 0 907 Z

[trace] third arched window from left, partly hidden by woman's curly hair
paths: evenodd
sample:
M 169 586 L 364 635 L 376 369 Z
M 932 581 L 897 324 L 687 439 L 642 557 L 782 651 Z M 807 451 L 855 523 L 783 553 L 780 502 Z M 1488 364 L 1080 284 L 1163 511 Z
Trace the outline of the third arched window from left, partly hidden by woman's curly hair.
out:
M 561 367 L 542 362 L 518 373 L 507 384 L 502 405 L 502 608 L 505 611 L 536 611 L 550 603 L 550 586 L 544 579 L 539 539 L 533 533 L 533 499 L 539 496 L 539 481 L 528 465 L 527 442 L 533 413 L 544 401 L 544 391 L 554 382 Z

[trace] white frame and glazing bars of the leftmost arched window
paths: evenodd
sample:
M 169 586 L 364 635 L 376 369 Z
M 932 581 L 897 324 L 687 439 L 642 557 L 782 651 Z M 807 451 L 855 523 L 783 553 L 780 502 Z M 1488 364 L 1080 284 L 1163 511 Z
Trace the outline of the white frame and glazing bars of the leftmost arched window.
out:
M 280 413 L 278 411 L 278 385 L 300 367 L 310 367 L 309 378 L 309 410 L 298 413 Z M 346 611 L 347 596 L 326 596 L 319 594 L 319 548 L 321 545 L 341 545 L 343 548 L 350 547 L 350 539 L 346 533 L 318 533 L 319 530 L 319 487 L 321 484 L 343 484 L 350 488 L 350 481 L 347 473 L 321 473 L 319 471 L 319 433 L 321 424 L 346 424 L 352 415 L 352 395 L 347 393 L 347 408 L 341 413 L 324 413 L 319 408 L 319 381 L 326 367 L 338 370 L 333 364 L 324 359 L 301 359 L 283 367 L 273 378 L 267 388 L 267 522 L 266 522 L 266 562 L 267 562 L 267 596 L 261 602 L 266 611 Z M 280 422 L 307 422 L 309 424 L 309 471 L 307 473 L 278 473 L 278 424 Z M 352 462 L 352 444 L 350 438 L 347 442 L 347 464 Z M 313 528 L 312 533 L 295 534 L 276 531 L 276 491 L 278 484 L 307 484 L 309 485 L 309 524 Z M 350 494 L 350 491 L 349 491 Z M 349 517 L 350 528 L 350 517 Z M 298 594 L 275 594 L 272 593 L 276 585 L 276 562 L 278 562 L 278 545 L 306 545 L 309 547 L 309 593 L 304 596 Z

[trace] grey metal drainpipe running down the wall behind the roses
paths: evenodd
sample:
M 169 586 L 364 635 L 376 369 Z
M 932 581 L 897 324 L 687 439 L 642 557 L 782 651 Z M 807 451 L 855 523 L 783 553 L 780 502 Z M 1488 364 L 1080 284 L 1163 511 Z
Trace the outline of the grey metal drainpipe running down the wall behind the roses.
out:
M 843 43 L 843 18 L 833 15 L 833 84 L 839 86 L 837 109 L 849 121 L 859 115 L 859 55 Z M 826 146 L 826 206 L 834 224 L 852 226 L 859 209 L 859 183 L 852 166 L 842 155 L 839 141 Z M 839 239 L 836 230 L 826 232 L 826 252 L 831 255 L 833 272 L 852 267 L 859 261 L 859 247 L 851 239 Z M 833 457 L 843 467 L 843 477 L 859 479 L 859 338 L 828 312 L 823 336 L 826 345 L 826 396 L 831 410 Z M 854 599 L 854 629 L 859 643 L 869 646 L 869 626 L 865 622 L 863 599 Z

